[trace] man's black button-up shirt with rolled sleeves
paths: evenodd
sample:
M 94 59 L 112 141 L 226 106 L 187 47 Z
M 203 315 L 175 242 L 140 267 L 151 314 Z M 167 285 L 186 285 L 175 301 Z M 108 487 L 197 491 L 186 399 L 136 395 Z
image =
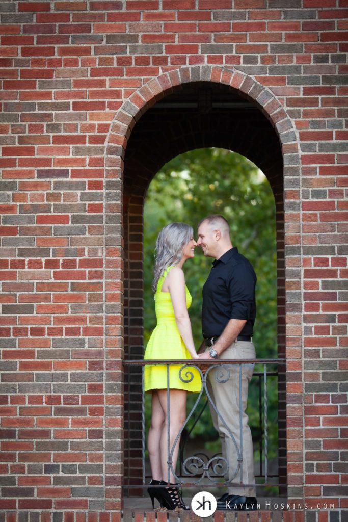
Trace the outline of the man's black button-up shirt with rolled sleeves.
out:
M 238 248 L 215 259 L 203 286 L 202 333 L 219 336 L 230 319 L 246 319 L 240 335 L 253 335 L 256 317 L 256 274 Z

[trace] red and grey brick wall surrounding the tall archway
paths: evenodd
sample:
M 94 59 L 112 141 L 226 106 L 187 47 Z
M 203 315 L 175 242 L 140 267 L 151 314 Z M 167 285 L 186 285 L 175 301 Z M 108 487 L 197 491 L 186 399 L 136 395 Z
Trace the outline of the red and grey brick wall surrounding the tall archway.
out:
M 348 507 L 346 2 L 173 6 L 0 2 L 0 510 L 11 522 L 118 520 L 121 361 L 142 349 L 143 197 L 164 161 L 212 145 L 244 153 L 273 187 L 288 495 L 338 508 L 284 520 L 333 522 Z M 180 124 L 159 111 L 207 87 L 254 107 L 254 120 L 239 113 L 243 134 L 209 134 L 229 128 L 227 109 Z M 176 133 L 164 141 L 166 122 Z

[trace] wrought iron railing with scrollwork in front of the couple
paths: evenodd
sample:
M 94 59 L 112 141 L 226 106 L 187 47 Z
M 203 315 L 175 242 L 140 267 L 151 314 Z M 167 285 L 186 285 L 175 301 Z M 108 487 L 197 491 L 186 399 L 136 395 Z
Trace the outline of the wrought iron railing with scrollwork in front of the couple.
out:
M 146 365 L 165 365 L 166 366 L 166 374 L 167 374 L 167 464 L 168 464 L 168 477 L 170 477 L 170 473 L 172 472 L 175 481 L 181 483 L 185 488 L 195 488 L 198 484 L 201 483 L 203 479 L 208 479 L 205 481 L 205 488 L 216 488 L 216 487 L 226 487 L 231 484 L 235 484 L 238 486 L 254 486 L 255 484 L 244 484 L 243 483 L 243 431 L 242 431 L 242 366 L 244 364 L 258 364 L 263 366 L 263 371 L 257 371 L 253 374 L 253 379 L 258 379 L 258 399 L 259 399 L 259 453 L 260 453 L 260 468 L 259 473 L 256 474 L 256 477 L 264 478 L 264 481 L 257 485 L 262 486 L 274 486 L 277 485 L 276 482 L 269 482 L 270 478 L 277 478 L 277 474 L 269 474 L 268 470 L 268 378 L 270 377 L 278 377 L 278 369 L 275 371 L 267 371 L 267 365 L 278 365 L 280 363 L 284 363 L 285 359 L 220 359 L 220 360 L 203 360 L 200 359 L 199 362 L 197 360 L 126 360 L 123 361 L 125 367 L 129 366 L 141 366 L 142 367 L 142 390 L 144 390 L 143 386 L 143 376 L 144 376 L 144 368 Z M 182 365 L 179 369 L 179 377 L 181 381 L 185 383 L 189 383 L 194 378 L 193 372 L 190 370 L 195 368 L 198 370 L 201 376 L 201 389 L 200 392 L 197 393 L 197 399 L 193 408 L 188 412 L 186 420 L 177 434 L 175 441 L 170 447 L 170 394 L 169 394 L 169 383 L 170 383 L 170 365 Z M 218 383 L 225 383 L 231 377 L 231 372 L 229 366 L 238 365 L 238 377 L 239 377 L 239 444 L 235 440 L 233 433 L 230 431 L 227 426 L 225 420 L 221 417 L 221 413 L 216 408 L 214 401 L 211 397 L 209 389 L 207 387 L 208 384 L 208 376 L 212 369 L 215 366 L 219 367 L 219 371 L 214 372 L 214 378 Z M 205 367 L 205 371 L 201 370 L 201 366 Z M 263 386 L 262 386 L 263 381 Z M 186 430 L 186 426 L 191 418 L 194 416 L 194 412 L 198 407 L 200 399 L 205 393 L 207 399 L 205 401 L 205 405 L 201 408 L 196 417 L 194 418 L 194 423 L 190 426 L 189 430 Z M 262 406 L 263 403 L 263 406 Z M 212 457 L 209 457 L 204 453 L 195 453 L 194 455 L 188 456 L 185 458 L 185 446 L 188 440 L 188 436 L 191 431 L 194 429 L 195 424 L 199 421 L 203 410 L 210 405 L 217 416 L 220 418 L 220 421 L 225 426 L 225 429 L 229 431 L 230 437 L 234 443 L 236 454 L 237 454 L 237 467 L 233 470 L 233 473 L 229 473 L 229 462 L 221 455 L 214 454 Z M 183 433 L 185 433 L 185 437 L 182 437 Z M 263 440 L 263 444 L 262 444 Z M 178 465 L 177 470 L 173 468 L 173 453 L 176 445 L 179 443 L 179 457 L 178 457 Z M 142 485 L 139 484 L 139 487 L 146 487 L 146 462 L 145 462 L 145 393 L 142 391 Z M 229 479 L 225 477 L 229 476 Z M 193 480 L 196 479 L 196 480 Z M 238 482 L 233 482 L 233 480 L 237 480 Z M 239 480 L 238 480 L 239 479 Z

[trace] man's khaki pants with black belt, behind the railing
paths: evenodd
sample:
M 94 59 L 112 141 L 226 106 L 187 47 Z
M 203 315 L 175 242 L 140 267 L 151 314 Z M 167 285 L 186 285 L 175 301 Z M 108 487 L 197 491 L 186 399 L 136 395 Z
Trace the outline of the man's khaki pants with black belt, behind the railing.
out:
M 231 346 L 220 355 L 219 359 L 255 359 L 255 348 L 251 341 L 234 341 Z M 215 380 L 215 374 L 219 371 L 219 367 L 210 370 L 208 375 L 208 390 L 215 407 L 219 411 L 221 417 L 225 421 L 228 429 L 233 434 L 238 449 L 240 448 L 239 434 L 239 365 L 231 364 L 228 366 L 230 370 L 230 378 L 225 383 L 219 383 Z M 255 484 L 254 476 L 254 455 L 253 441 L 251 440 L 251 432 L 248 425 L 248 416 L 245 413 L 248 400 L 248 385 L 253 375 L 254 364 L 242 365 L 242 441 L 243 441 L 243 483 Z M 221 369 L 220 369 L 221 372 Z M 223 378 L 227 377 L 226 371 L 223 371 Z M 221 379 L 220 379 L 221 380 Z M 226 429 L 222 420 L 211 407 L 210 411 L 215 430 L 218 431 L 221 439 L 222 456 L 229 462 L 229 472 L 226 480 L 231 480 L 238 466 L 238 454 L 233 439 Z M 241 470 L 239 469 L 233 479 L 235 484 L 240 482 Z M 240 496 L 256 496 L 255 487 L 238 487 L 231 486 L 228 488 L 230 495 Z

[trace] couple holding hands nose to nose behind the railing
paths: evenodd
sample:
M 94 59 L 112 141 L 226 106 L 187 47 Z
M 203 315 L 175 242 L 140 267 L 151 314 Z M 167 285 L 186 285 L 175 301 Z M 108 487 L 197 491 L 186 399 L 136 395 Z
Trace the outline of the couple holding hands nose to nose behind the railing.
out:
M 210 275 L 203 287 L 202 333 L 203 342 L 196 352 L 187 309 L 191 304 L 185 286 L 183 265 L 194 257 L 194 248 L 215 258 Z M 197 243 L 194 232 L 185 223 L 170 223 L 164 227 L 156 242 L 153 291 L 157 326 L 149 339 L 144 359 L 255 359 L 252 342 L 255 322 L 256 275 L 248 260 L 233 247 L 230 227 L 223 216 L 208 216 L 198 225 Z M 197 361 L 198 362 L 198 361 Z M 187 392 L 200 392 L 201 378 L 197 369 L 190 368 L 193 379 L 189 383 L 179 377 L 182 365 L 171 365 L 169 370 L 170 394 L 170 447 L 186 419 Z M 148 493 L 154 507 L 156 498 L 161 507 L 188 509 L 175 484 L 173 473 L 168 480 L 167 463 L 167 367 L 145 366 L 145 391 L 152 394 L 151 428 L 148 449 L 152 479 Z M 210 393 L 222 418 L 212 410 L 215 429 L 219 432 L 222 455 L 229 462 L 229 480 L 237 469 L 237 452 L 232 432 L 239 447 L 239 369 L 230 365 L 230 378 L 219 383 L 215 370 L 209 372 Z M 217 368 L 218 370 L 218 368 Z M 243 483 L 247 487 L 231 486 L 220 499 L 218 509 L 252 509 L 256 505 L 251 440 L 247 406 L 248 384 L 253 374 L 252 364 L 242 365 L 242 423 L 243 423 Z M 175 470 L 178 441 L 172 462 Z M 239 480 L 239 472 L 235 481 Z M 161 486 L 161 488 L 159 487 Z M 236 507 L 237 508 L 237 507 Z

